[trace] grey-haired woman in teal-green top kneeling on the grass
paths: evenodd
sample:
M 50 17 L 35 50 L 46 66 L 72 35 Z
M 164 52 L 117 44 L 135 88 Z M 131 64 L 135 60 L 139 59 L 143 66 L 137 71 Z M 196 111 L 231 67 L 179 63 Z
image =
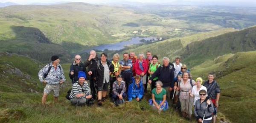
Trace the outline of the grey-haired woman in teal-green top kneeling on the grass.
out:
M 157 109 L 159 114 L 161 111 L 168 109 L 166 90 L 162 86 L 163 83 L 161 81 L 156 82 L 156 88 L 152 90 L 152 99 L 149 100 L 149 104 L 153 106 L 153 109 Z

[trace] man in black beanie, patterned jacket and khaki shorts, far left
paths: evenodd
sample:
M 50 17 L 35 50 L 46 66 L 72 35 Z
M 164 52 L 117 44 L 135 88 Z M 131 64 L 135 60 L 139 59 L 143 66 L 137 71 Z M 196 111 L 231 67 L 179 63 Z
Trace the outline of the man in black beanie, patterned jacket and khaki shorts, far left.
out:
M 44 95 L 42 97 L 42 104 L 45 105 L 47 96 L 51 91 L 54 92 L 54 102 L 58 102 L 60 95 L 60 85 L 66 81 L 64 71 L 59 64 L 60 59 L 58 56 L 52 56 L 51 63 L 47 64 L 44 68 L 39 70 L 38 77 L 41 83 L 46 84 L 44 88 Z

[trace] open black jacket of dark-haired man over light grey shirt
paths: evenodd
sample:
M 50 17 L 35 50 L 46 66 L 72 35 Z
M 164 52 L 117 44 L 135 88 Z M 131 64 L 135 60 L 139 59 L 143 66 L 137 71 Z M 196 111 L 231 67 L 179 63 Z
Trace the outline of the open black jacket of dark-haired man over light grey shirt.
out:
M 104 80 L 104 67 L 101 63 L 101 60 L 99 59 L 97 62 L 97 69 L 96 69 L 96 78 L 97 81 L 102 81 Z M 111 62 L 107 60 L 107 64 L 108 64 L 108 69 L 110 72 L 114 72 L 114 67 L 113 65 L 111 65 Z

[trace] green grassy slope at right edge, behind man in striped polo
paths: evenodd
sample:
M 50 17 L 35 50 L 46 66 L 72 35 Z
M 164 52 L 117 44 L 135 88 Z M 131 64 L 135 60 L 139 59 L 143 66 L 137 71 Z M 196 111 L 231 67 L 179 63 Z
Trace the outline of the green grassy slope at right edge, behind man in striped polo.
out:
M 194 77 L 207 79 L 215 72 L 221 86 L 219 111 L 233 123 L 254 123 L 256 118 L 256 51 L 219 56 L 191 69 Z

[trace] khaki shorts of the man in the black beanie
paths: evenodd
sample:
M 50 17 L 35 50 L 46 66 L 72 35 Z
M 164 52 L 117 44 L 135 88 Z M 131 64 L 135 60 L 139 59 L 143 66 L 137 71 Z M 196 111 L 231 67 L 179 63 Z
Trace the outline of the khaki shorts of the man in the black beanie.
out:
M 51 91 L 53 91 L 54 97 L 58 97 L 60 95 L 60 84 L 46 84 L 44 94 L 49 95 Z

